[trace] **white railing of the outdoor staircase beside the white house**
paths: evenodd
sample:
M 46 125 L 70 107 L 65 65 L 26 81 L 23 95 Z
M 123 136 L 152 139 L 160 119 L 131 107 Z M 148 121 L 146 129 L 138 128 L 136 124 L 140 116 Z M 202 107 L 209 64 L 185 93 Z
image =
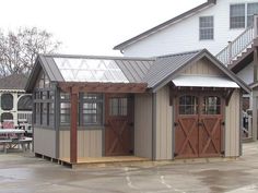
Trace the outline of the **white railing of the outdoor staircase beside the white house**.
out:
M 245 32 L 243 32 L 239 36 L 237 36 L 233 41 L 228 41 L 228 45 L 221 50 L 216 58 L 225 65 L 228 65 L 232 63 L 234 59 L 237 58 L 245 49 L 247 49 L 254 38 L 257 37 L 257 22 L 258 16 L 254 16 L 254 25 L 248 27 Z

